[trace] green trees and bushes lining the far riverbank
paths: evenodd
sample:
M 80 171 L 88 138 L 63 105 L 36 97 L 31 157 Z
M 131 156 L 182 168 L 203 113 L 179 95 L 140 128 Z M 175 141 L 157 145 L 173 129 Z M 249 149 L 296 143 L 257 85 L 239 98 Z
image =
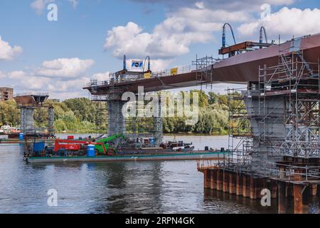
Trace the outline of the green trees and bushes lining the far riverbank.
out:
M 201 90 L 192 90 L 199 95 L 199 120 L 196 125 L 186 125 L 185 118 L 163 118 L 164 135 L 228 135 L 228 95 L 213 92 L 206 94 Z M 170 93 L 170 92 L 168 92 Z M 186 93 L 186 92 L 185 92 Z M 107 132 L 107 118 L 102 115 L 88 98 L 72 98 L 63 102 L 47 101 L 55 108 L 55 133 L 103 134 Z M 48 123 L 48 112 L 36 109 L 34 115 L 36 127 L 45 127 Z M 139 125 L 149 126 L 148 120 Z M 102 123 L 102 124 L 101 124 Z M 0 103 L 0 125 L 20 125 L 20 110 L 14 100 Z

